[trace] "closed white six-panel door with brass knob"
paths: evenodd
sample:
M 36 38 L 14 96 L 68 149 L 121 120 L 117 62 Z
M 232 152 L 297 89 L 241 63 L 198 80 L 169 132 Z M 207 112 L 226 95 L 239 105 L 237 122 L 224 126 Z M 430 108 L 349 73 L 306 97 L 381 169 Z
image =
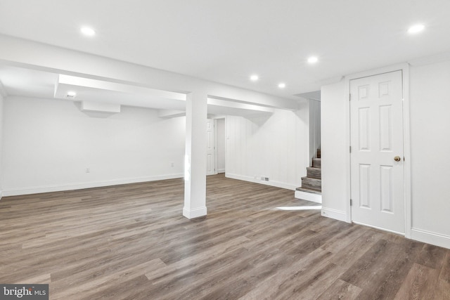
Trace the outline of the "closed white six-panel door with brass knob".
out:
M 405 233 L 401 71 L 350 81 L 352 221 Z

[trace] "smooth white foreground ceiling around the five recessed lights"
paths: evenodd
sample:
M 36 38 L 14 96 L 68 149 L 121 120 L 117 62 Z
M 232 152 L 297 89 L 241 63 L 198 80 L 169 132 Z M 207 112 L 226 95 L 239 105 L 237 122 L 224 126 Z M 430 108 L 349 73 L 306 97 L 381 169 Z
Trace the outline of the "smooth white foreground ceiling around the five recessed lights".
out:
M 296 98 L 450 51 L 449 11 L 449 0 L 0 0 L 0 34 Z M 407 34 L 418 22 L 425 31 Z

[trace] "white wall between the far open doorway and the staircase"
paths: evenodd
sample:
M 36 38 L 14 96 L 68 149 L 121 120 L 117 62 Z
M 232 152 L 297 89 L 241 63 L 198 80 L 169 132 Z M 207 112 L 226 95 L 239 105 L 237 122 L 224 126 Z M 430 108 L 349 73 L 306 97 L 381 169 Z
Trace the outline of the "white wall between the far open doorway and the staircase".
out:
M 227 116 L 226 176 L 295 190 L 309 165 L 308 118 L 307 106 L 273 115 Z

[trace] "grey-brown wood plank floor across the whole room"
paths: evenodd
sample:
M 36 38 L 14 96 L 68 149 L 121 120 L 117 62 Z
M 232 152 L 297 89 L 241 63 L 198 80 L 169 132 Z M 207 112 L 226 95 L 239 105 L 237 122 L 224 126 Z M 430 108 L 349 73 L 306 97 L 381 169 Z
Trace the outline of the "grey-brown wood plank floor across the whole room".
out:
M 50 299 L 450 299 L 450 250 L 320 216 L 283 190 L 182 179 L 0 201 L 0 282 Z

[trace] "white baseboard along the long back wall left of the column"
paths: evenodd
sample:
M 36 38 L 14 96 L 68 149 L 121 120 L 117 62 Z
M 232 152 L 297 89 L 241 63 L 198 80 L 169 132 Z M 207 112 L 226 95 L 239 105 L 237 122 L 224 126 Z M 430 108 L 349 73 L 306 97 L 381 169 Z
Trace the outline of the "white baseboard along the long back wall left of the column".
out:
M 35 186 L 28 188 L 12 188 L 10 190 L 3 190 L 2 194 L 4 197 L 8 196 L 18 196 L 18 195 L 30 195 L 38 193 L 51 193 L 60 192 L 63 190 L 81 190 L 84 188 L 101 188 L 103 186 L 110 185 L 120 185 L 128 183 L 141 183 L 147 181 L 160 181 L 165 179 L 173 178 L 183 178 L 183 174 L 169 174 L 162 176 L 150 176 L 150 177 L 136 177 L 136 178 L 124 178 L 112 181 L 94 181 L 87 183 L 70 183 L 68 185 L 46 185 L 46 186 Z

